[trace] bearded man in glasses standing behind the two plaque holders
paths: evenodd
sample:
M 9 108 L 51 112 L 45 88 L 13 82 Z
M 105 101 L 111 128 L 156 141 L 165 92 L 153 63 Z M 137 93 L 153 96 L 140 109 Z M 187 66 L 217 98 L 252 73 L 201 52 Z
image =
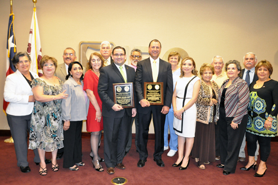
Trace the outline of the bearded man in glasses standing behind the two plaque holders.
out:
M 140 49 L 133 49 L 130 53 L 129 56 L 129 60 L 130 60 L 130 64 L 128 66 L 133 67 L 136 71 L 137 68 L 137 62 L 142 60 L 142 52 Z M 136 151 L 137 151 L 137 138 L 138 138 L 138 115 L 136 115 L 134 118 L 132 118 L 131 120 L 131 125 L 130 125 L 130 134 L 129 134 L 129 139 L 128 139 L 128 143 L 125 147 L 125 155 L 129 152 L 130 148 L 131 148 L 131 141 L 132 141 L 132 124 L 133 121 L 135 120 L 135 146 L 136 146 Z

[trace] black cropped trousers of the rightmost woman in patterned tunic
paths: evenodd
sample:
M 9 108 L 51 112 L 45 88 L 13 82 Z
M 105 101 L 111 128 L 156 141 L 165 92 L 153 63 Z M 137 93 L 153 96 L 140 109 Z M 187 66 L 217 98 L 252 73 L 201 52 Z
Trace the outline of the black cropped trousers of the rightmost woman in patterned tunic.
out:
M 246 132 L 246 140 L 248 156 L 255 156 L 258 141 L 260 145 L 260 159 L 266 162 L 270 154 L 271 137 L 264 137 Z

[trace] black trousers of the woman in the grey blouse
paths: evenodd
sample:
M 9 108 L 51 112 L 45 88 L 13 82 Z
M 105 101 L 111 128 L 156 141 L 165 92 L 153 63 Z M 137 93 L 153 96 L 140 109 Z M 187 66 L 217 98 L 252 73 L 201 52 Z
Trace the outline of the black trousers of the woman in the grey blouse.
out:
M 63 168 L 69 168 L 74 166 L 75 163 L 82 162 L 82 123 L 83 121 L 70 121 L 69 129 L 64 130 Z

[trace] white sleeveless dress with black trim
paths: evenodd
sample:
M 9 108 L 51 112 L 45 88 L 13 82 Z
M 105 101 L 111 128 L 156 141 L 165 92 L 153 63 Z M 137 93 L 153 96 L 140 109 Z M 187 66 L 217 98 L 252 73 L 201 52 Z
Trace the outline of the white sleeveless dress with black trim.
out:
M 190 78 L 182 77 L 177 80 L 176 93 L 177 96 L 180 97 L 180 98 L 176 98 L 177 110 L 182 108 L 184 90 L 186 89 L 186 86 L 189 83 L 189 81 L 191 81 L 194 77 L 195 76 Z M 187 99 L 185 100 L 184 105 L 186 105 L 189 102 L 189 100 L 192 98 L 193 87 L 198 80 L 200 80 L 200 78 L 196 77 L 190 82 L 187 89 L 187 97 L 186 97 Z M 195 137 L 196 118 L 197 118 L 197 108 L 196 108 L 196 104 L 194 103 L 189 109 L 186 110 L 186 112 L 183 113 L 182 123 L 181 120 L 174 118 L 173 127 L 175 133 L 182 137 Z

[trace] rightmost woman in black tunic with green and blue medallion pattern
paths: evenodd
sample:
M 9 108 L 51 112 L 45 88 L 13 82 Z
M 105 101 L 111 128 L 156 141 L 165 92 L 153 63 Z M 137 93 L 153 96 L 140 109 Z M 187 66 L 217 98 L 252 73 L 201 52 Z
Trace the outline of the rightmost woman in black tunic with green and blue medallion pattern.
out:
M 262 177 L 267 169 L 265 162 L 270 153 L 271 137 L 277 135 L 278 82 L 271 80 L 272 65 L 267 60 L 260 61 L 255 72 L 259 80 L 250 84 L 249 121 L 246 129 L 248 164 L 241 168 L 249 170 L 257 165 L 255 161 L 256 142 L 260 145 L 259 168 L 256 177 Z

